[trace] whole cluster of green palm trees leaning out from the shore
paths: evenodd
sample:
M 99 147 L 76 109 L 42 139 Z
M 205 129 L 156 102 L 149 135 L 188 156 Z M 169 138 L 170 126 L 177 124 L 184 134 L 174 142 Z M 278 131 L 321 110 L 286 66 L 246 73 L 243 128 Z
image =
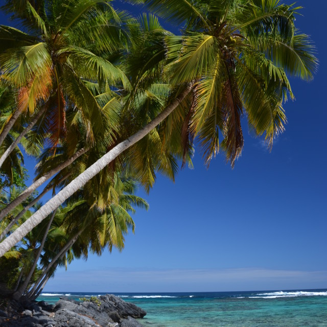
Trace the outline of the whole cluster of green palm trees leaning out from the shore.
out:
M 58 266 L 122 250 L 156 174 L 243 150 L 242 118 L 271 148 L 289 77 L 317 59 L 277 0 L 5 1 L 0 26 L 0 288 L 35 299 Z M 118 5 L 118 4 L 117 4 Z M 162 28 L 161 17 L 181 27 Z M 33 156 L 35 172 L 24 168 Z M 27 173 L 35 175 L 26 185 Z M 43 185 L 43 189 L 40 187 Z M 52 191 L 44 205 L 40 200 Z

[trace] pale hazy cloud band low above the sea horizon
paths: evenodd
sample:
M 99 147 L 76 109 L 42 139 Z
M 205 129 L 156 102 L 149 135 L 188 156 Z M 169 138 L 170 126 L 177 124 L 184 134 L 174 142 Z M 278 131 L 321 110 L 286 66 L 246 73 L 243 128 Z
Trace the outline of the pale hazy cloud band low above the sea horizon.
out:
M 69 268 L 68 268 L 69 269 Z M 316 289 L 327 287 L 327 271 L 237 269 L 103 268 L 59 271 L 45 291 L 210 292 Z

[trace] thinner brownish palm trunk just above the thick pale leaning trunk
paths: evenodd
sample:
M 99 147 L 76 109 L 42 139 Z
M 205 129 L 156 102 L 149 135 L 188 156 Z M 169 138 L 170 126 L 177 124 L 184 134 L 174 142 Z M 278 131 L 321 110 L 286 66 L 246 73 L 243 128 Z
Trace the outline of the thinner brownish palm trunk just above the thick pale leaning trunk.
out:
M 78 157 L 82 154 L 87 152 L 89 148 L 83 148 L 77 151 L 72 157 L 67 159 L 61 165 L 57 166 L 56 168 L 52 169 L 49 173 L 46 173 L 39 179 L 37 179 L 31 186 L 29 186 L 24 192 L 22 192 L 15 200 L 9 203 L 5 208 L 3 208 L 2 212 L 0 213 L 0 221 L 4 219 L 4 217 L 9 214 L 12 209 L 14 209 L 18 204 L 24 201 L 31 193 L 33 193 L 40 185 L 42 185 L 46 180 L 60 172 L 62 169 L 66 168 L 67 166 L 71 165 Z

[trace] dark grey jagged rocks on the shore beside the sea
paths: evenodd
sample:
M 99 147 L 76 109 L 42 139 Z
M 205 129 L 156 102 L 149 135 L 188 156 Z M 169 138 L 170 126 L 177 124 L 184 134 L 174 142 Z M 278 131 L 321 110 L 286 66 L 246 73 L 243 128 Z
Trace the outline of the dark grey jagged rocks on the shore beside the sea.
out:
M 107 294 L 92 300 L 60 297 L 55 305 L 44 301 L 10 301 L 0 310 L 2 327 L 142 327 L 136 319 L 147 313 L 133 303 Z

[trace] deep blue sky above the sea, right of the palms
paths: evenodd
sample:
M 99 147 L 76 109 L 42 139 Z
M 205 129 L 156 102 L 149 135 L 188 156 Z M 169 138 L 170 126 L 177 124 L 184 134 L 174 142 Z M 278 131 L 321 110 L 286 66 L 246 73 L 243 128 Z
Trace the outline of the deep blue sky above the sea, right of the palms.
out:
M 291 1 L 289 2 L 291 3 Z M 244 124 L 235 169 L 221 154 L 176 182 L 159 176 L 135 235 L 114 250 L 59 269 L 45 291 L 178 292 L 327 288 L 325 1 L 306 7 L 297 27 L 315 42 L 313 82 L 292 81 L 288 125 L 267 151 Z M 124 5 L 129 8 L 129 5 Z

